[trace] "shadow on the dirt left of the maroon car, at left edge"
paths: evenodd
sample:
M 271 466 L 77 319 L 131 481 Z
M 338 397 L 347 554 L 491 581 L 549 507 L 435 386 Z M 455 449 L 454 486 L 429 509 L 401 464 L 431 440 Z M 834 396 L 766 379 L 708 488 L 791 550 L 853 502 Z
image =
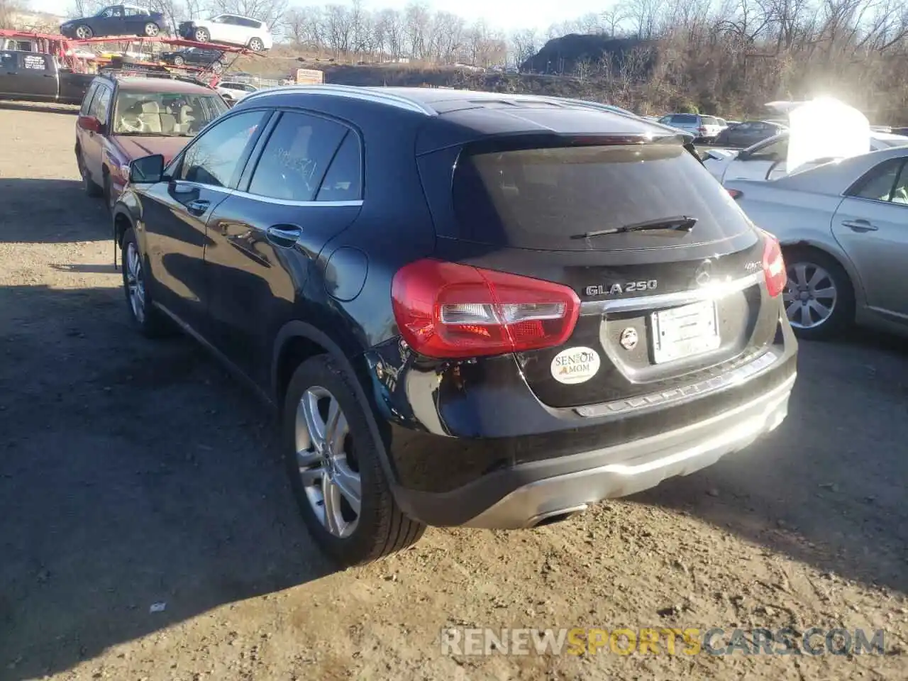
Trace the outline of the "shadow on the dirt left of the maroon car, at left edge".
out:
M 111 238 L 104 202 L 78 180 L 0 178 L 0 242 L 59 243 Z

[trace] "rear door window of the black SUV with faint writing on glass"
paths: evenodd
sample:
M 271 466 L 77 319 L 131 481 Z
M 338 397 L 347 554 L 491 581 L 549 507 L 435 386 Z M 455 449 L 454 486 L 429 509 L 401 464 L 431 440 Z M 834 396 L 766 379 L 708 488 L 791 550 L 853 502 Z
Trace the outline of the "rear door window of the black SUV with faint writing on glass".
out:
M 249 192 L 271 199 L 314 201 L 347 128 L 307 114 L 283 114 L 252 173 Z

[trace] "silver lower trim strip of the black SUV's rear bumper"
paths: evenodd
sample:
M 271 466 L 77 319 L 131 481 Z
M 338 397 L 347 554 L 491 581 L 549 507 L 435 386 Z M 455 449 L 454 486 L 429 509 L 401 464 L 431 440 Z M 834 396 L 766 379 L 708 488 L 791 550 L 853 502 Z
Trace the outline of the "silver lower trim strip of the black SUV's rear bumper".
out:
M 792 373 L 774 389 L 710 419 L 626 444 L 498 470 L 441 494 L 398 490 L 429 525 L 517 529 L 624 497 L 703 469 L 775 429 L 788 413 Z

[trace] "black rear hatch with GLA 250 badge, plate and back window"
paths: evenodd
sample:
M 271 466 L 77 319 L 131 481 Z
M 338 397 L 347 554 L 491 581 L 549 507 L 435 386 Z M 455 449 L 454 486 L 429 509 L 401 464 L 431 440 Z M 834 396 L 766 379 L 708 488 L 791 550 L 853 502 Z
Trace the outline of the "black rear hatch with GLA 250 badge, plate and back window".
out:
M 420 159 L 439 259 L 577 294 L 568 341 L 516 355 L 552 407 L 715 376 L 775 337 L 764 240 L 716 180 L 676 142 L 603 142 L 499 138 Z

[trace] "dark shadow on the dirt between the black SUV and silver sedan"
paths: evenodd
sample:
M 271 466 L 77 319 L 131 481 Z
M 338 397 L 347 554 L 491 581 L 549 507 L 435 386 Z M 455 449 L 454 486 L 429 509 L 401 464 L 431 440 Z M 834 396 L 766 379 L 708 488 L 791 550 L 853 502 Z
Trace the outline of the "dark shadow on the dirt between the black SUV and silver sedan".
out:
M 871 340 L 868 340 L 871 339 Z M 908 593 L 908 353 L 856 331 L 802 342 L 783 425 L 634 499 L 677 508 L 824 572 Z

